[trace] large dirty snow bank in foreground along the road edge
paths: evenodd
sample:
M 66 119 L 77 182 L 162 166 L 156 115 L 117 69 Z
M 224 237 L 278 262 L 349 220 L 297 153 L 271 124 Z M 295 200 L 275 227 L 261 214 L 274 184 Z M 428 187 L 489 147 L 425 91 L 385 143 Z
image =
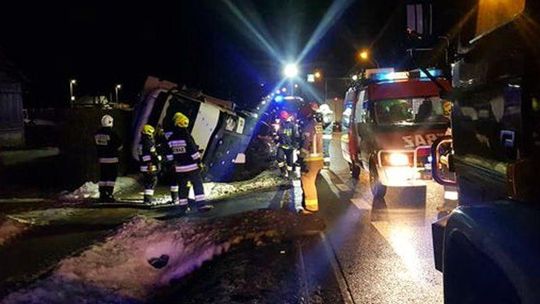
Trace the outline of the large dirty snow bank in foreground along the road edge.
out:
M 3 303 L 144 302 L 242 241 L 275 241 L 322 228 L 316 217 L 276 210 L 210 220 L 135 218 L 105 242 L 60 262 L 48 278 L 8 295 Z M 150 265 L 159 257 L 168 257 L 162 268 Z

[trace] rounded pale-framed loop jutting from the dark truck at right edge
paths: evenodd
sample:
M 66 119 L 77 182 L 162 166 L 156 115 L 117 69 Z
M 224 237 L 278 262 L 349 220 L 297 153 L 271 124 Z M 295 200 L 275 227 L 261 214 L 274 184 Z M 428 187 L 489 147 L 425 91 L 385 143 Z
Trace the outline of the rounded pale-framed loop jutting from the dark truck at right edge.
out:
M 433 179 L 443 186 L 456 186 L 454 176 L 454 157 L 452 137 L 438 138 L 431 146 L 431 175 Z

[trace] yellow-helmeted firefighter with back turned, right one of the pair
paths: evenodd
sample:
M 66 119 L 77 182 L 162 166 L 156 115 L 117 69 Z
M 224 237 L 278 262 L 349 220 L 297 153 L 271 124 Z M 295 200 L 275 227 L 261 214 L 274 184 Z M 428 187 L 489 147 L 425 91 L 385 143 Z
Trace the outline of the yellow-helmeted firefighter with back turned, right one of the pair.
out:
M 193 137 L 189 133 L 189 118 L 182 113 L 174 116 L 172 135 L 169 137 L 169 158 L 174 161 L 176 172 L 176 185 L 178 186 L 178 198 L 172 197 L 173 203 L 187 209 L 188 204 L 188 182 L 193 185 L 195 202 L 199 211 L 209 211 L 213 208 L 205 203 L 204 187 L 201 178 L 201 154 L 199 147 L 195 144 Z

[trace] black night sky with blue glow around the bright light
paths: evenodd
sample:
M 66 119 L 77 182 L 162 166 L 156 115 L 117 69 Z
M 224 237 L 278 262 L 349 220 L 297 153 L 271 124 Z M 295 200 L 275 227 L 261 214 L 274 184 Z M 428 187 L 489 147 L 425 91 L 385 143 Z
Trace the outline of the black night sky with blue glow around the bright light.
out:
M 122 99 L 134 101 L 147 75 L 247 105 L 280 77 L 280 63 L 221 0 L 10 2 L 3 4 L 0 48 L 28 80 L 27 105 L 67 105 L 70 78 L 79 96 L 108 95 L 121 83 Z M 380 34 L 399 1 L 341 2 L 346 9 L 302 61 L 304 73 L 317 67 L 328 77 L 345 76 L 355 51 L 374 42 L 380 62 L 394 60 L 382 51 Z M 232 3 L 280 57 L 294 59 L 332 1 Z

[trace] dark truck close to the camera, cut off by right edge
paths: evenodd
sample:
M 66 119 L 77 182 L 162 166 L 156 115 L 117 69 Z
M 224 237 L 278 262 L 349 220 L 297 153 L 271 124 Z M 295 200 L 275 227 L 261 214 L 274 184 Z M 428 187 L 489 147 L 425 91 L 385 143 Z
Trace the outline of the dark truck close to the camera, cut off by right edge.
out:
M 445 303 L 540 303 L 540 2 L 461 3 L 452 137 L 432 151 L 459 206 L 432 226 L 435 266 Z

